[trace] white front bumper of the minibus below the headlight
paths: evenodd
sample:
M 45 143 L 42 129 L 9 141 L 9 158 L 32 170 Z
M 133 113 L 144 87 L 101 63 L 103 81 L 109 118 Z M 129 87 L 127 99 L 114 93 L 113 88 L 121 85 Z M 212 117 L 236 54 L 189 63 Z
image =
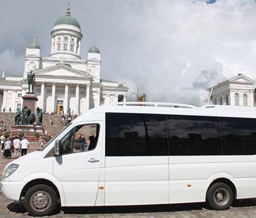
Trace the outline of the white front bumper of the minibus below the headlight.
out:
M 10 182 L 3 181 L 0 182 L 0 191 L 6 198 L 14 201 L 19 201 L 21 190 L 25 186 L 25 182 Z

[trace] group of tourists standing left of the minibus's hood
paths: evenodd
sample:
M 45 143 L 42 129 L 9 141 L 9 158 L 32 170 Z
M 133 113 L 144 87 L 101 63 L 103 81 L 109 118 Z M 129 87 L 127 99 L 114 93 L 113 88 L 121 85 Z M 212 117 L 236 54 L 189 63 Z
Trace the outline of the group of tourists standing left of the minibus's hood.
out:
M 18 158 L 20 153 L 21 156 L 27 154 L 27 151 L 30 149 L 30 143 L 26 139 L 25 136 L 23 137 L 14 137 L 13 134 L 8 136 L 7 138 L 5 137 L 5 134 L 2 134 L 0 137 L 1 141 L 1 147 L 2 147 L 2 152 L 4 152 L 4 158 L 5 159 L 10 159 L 11 158 L 11 152 L 14 152 L 14 158 Z

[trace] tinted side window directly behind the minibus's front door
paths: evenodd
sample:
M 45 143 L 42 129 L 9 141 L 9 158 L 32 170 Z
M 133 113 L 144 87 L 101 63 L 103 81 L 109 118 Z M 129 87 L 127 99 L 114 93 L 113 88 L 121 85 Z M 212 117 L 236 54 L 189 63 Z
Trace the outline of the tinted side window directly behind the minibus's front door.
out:
M 106 156 L 168 155 L 166 115 L 106 113 Z

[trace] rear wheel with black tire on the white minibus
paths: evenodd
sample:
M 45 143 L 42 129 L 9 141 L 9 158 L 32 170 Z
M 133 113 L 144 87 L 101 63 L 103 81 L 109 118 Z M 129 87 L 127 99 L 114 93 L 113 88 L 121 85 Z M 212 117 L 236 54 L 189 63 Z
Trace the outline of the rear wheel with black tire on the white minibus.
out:
M 206 203 L 213 210 L 226 210 L 233 203 L 233 200 L 232 189 L 223 182 L 212 184 L 206 194 Z

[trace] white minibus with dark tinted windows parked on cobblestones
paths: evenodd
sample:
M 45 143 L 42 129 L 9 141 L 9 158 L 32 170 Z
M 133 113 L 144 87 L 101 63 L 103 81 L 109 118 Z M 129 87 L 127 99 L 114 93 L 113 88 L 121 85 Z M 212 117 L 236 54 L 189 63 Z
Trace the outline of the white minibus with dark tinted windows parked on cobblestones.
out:
M 33 216 L 61 206 L 256 197 L 256 108 L 132 103 L 93 108 L 9 163 L 1 191 Z

